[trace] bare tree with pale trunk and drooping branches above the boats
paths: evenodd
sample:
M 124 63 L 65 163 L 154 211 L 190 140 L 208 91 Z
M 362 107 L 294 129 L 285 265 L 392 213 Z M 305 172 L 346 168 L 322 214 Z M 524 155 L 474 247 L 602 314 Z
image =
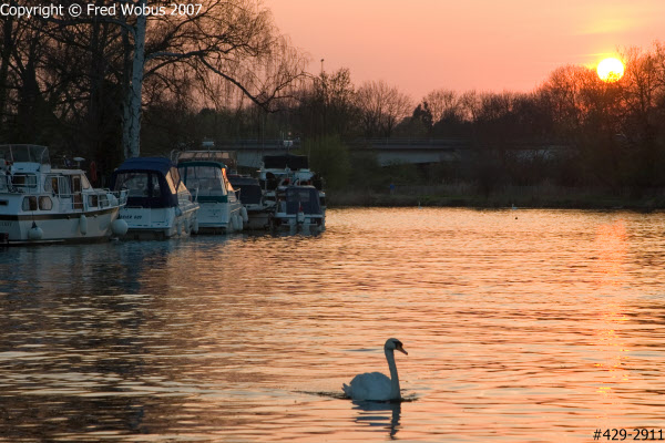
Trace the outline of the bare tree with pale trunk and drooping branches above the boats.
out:
M 124 39 L 125 54 L 132 54 L 132 74 L 123 111 L 125 156 L 140 151 L 143 81 L 166 66 L 177 64 L 203 84 L 218 75 L 266 110 L 304 75 L 304 59 L 278 34 L 258 2 L 202 4 L 195 14 L 126 18 L 123 27 L 131 39 Z M 145 8 L 146 0 L 137 6 Z

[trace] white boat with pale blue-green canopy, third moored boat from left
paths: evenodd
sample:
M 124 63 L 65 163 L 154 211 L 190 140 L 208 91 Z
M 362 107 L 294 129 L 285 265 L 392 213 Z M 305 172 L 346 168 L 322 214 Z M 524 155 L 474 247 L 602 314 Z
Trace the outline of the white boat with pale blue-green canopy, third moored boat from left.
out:
M 236 189 L 228 181 L 226 164 L 231 159 L 222 151 L 185 151 L 177 155 L 183 182 L 196 194 L 198 229 L 208 233 L 242 231 L 247 222 Z

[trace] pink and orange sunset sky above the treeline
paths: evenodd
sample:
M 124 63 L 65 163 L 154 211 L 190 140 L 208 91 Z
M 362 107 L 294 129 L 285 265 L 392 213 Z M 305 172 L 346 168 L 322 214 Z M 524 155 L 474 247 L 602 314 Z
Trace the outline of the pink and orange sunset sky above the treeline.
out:
M 264 0 L 310 72 L 346 66 L 420 100 L 531 91 L 556 68 L 665 42 L 665 0 Z

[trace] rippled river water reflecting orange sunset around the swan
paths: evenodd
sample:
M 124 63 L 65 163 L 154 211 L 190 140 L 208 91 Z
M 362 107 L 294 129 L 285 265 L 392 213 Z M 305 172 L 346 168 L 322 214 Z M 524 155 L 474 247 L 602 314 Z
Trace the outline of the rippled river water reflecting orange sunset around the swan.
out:
M 665 215 L 339 209 L 319 236 L 0 249 L 0 441 L 665 427 Z M 401 404 L 342 382 L 387 372 Z

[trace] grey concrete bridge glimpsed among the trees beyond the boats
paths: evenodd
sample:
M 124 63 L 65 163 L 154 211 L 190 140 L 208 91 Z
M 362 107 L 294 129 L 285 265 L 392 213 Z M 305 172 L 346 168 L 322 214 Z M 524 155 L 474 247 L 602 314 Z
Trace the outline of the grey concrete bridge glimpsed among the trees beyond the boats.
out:
M 459 162 L 469 150 L 467 138 L 364 138 L 349 143 L 351 152 L 374 153 L 381 166 L 396 163 Z M 282 140 L 241 140 L 217 144 L 217 150 L 235 151 L 238 165 L 258 167 L 264 155 L 286 154 L 300 150 L 300 142 Z M 306 153 L 305 153 L 306 154 Z

